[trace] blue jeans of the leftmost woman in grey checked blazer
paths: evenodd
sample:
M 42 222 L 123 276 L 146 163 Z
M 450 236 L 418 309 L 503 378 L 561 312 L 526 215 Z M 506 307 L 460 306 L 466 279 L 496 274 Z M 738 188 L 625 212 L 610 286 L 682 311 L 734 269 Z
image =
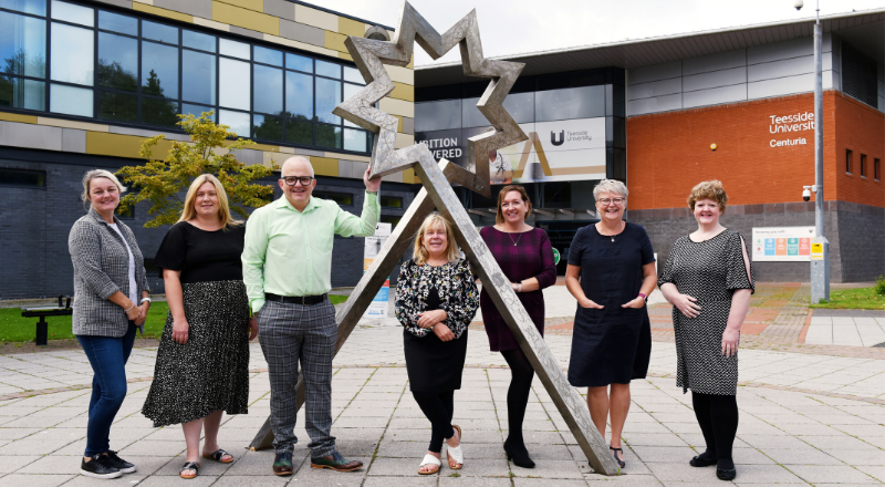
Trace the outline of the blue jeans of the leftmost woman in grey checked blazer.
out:
M 111 424 L 126 398 L 126 361 L 135 343 L 135 323 L 121 338 L 77 335 L 95 375 L 92 377 L 85 456 L 111 449 Z

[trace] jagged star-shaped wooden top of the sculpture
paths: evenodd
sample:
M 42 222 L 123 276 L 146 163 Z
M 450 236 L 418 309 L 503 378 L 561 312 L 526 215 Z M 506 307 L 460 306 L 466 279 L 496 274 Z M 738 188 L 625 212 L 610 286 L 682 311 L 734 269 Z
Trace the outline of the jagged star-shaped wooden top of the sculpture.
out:
M 347 51 L 368 84 L 336 106 L 332 113 L 376 134 L 372 152 L 373 176 L 384 176 L 403 170 L 420 160 L 421 157 L 426 157 L 429 149 L 425 144 L 396 149 L 398 120 L 374 106 L 394 90 L 394 83 L 384 69 L 384 64 L 397 66 L 408 64 L 415 42 L 424 48 L 433 59 L 441 58 L 455 44 L 460 44 L 465 74 L 491 79 L 489 86 L 477 103 L 477 108 L 489 120 L 494 131 L 468 139 L 467 156 L 470 167 L 457 172 L 455 176 L 457 183 L 489 196 L 489 152 L 529 138 L 503 107 L 504 97 L 510 93 L 510 89 L 525 64 L 483 58 L 476 10 L 465 15 L 444 34 L 439 34 L 406 1 L 399 15 L 399 29 L 392 42 L 348 37 L 344 41 L 344 45 L 347 46 Z

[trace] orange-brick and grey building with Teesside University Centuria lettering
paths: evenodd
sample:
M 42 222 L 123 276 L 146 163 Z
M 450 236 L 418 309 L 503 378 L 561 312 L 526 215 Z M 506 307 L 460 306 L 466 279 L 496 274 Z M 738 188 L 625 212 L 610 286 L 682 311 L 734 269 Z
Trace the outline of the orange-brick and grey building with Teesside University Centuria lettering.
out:
M 875 280 L 885 274 L 885 10 L 822 22 L 822 121 L 809 20 L 500 58 L 525 63 L 504 106 L 530 138 L 489 154 L 493 188 L 525 185 L 533 224 L 565 256 L 597 219 L 595 184 L 622 179 L 626 218 L 645 226 L 663 266 L 697 228 L 691 187 L 719 179 L 722 224 L 748 240 L 757 278 L 808 281 L 814 201 L 802 189 L 814 184 L 822 122 L 832 280 Z M 416 141 L 464 163 L 467 138 L 489 129 L 476 108 L 488 82 L 460 62 L 418 68 L 415 81 Z M 478 226 L 493 225 L 494 189 L 460 191 Z

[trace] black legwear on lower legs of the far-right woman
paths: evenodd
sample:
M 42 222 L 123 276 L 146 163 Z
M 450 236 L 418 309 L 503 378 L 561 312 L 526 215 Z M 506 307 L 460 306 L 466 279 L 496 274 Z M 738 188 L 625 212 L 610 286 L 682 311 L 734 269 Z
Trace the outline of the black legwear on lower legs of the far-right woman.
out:
M 733 395 L 691 392 L 695 416 L 707 443 L 705 457 L 731 462 L 731 447 L 738 433 L 738 402 Z M 733 468 L 729 467 L 729 468 Z

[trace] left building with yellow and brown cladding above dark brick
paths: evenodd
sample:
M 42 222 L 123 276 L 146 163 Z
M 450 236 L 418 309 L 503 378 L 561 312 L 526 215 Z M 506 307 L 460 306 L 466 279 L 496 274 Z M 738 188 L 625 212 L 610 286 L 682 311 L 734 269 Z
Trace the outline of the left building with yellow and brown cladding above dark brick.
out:
M 372 134 L 332 114 L 364 85 L 344 40 L 392 32 L 290 0 L 0 0 L 0 299 L 73 293 L 67 234 L 86 211 L 83 173 L 143 164 L 138 148 L 157 134 L 187 141 L 177 114 L 212 111 L 257 142 L 237 153 L 246 164 L 309 157 L 315 195 L 360 214 Z M 404 147 L 413 65 L 388 72 L 396 89 L 379 106 L 399 118 Z M 382 221 L 398 220 L 414 183 L 412 172 L 385 178 Z M 152 260 L 167 228 L 144 228 L 147 208 L 122 218 L 162 292 Z M 333 286 L 356 283 L 363 247 L 336 237 Z

